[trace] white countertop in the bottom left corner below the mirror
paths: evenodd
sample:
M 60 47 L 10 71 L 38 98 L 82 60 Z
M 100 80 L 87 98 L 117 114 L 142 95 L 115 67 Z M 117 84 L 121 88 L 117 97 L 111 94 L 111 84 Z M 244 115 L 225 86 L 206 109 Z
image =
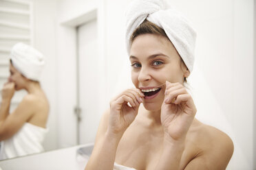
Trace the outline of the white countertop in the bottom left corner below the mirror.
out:
M 89 143 L 54 151 L 45 151 L 41 154 L 1 160 L 0 167 L 2 170 L 82 170 L 85 169 L 87 158 L 77 154 L 77 150 L 91 145 L 92 143 Z

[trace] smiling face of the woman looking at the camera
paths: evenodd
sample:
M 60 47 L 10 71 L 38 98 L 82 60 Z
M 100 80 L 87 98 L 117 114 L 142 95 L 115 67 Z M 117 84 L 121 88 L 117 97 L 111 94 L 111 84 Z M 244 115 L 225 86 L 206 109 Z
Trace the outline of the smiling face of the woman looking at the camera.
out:
M 160 110 L 164 100 L 165 81 L 183 84 L 189 71 L 171 41 L 164 36 L 142 34 L 134 39 L 130 50 L 131 79 L 145 93 L 143 105 L 147 110 Z M 159 87 L 160 88 L 157 88 Z

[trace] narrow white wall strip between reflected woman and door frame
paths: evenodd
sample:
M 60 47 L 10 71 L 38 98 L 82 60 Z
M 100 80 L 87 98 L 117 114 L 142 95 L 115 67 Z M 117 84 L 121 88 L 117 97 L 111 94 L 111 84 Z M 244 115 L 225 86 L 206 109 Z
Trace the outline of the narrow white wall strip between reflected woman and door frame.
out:
M 45 55 L 45 68 L 41 75 L 41 86 L 50 102 L 50 114 L 47 121 L 49 132 L 45 137 L 45 150 L 57 146 L 57 60 L 56 60 L 56 1 L 32 0 L 34 12 L 34 47 Z

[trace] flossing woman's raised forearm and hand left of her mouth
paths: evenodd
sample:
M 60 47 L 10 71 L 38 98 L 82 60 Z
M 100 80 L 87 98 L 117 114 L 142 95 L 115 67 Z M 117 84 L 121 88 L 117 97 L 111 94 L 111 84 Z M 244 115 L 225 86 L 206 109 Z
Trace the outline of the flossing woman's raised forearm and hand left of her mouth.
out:
M 131 88 L 110 102 L 110 110 L 100 121 L 94 150 L 85 167 L 86 170 L 113 169 L 118 143 L 138 114 L 142 96 L 140 90 Z

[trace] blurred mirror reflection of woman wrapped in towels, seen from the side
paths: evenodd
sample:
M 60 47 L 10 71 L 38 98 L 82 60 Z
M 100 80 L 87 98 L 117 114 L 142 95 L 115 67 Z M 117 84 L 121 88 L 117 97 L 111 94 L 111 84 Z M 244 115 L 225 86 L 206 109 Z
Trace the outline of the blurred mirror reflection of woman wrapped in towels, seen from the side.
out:
M 43 92 L 39 75 L 44 57 L 36 49 L 22 42 L 12 47 L 10 53 L 10 77 L 3 85 L 0 106 L 0 159 L 14 158 L 43 151 L 47 133 L 46 123 L 49 103 Z M 25 89 L 17 108 L 10 113 L 15 90 Z

